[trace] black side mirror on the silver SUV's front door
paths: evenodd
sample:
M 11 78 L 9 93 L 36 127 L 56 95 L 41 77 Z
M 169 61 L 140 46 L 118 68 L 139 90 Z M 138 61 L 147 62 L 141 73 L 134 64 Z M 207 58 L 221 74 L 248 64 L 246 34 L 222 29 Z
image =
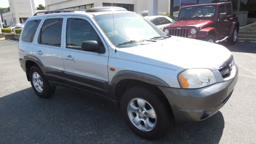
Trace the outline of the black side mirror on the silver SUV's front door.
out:
M 89 52 L 105 53 L 100 49 L 100 46 L 96 40 L 86 40 L 82 42 L 82 50 Z

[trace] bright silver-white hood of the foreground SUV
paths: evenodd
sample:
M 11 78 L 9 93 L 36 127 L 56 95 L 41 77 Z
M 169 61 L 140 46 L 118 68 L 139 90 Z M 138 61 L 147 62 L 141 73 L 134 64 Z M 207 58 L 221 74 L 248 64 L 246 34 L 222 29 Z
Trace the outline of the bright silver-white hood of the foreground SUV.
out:
M 219 44 L 177 36 L 118 50 L 118 57 L 124 60 L 177 71 L 187 68 L 218 70 L 230 56 L 231 52 Z

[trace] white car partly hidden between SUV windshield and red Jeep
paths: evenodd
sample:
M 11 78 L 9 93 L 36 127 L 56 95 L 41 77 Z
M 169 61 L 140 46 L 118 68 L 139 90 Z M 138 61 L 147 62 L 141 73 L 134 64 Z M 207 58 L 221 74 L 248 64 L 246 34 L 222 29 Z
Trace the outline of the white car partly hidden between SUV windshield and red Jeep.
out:
M 160 30 L 164 30 L 166 26 L 175 22 L 175 20 L 172 20 L 168 16 L 145 16 L 144 18 L 152 22 L 156 27 L 160 28 Z

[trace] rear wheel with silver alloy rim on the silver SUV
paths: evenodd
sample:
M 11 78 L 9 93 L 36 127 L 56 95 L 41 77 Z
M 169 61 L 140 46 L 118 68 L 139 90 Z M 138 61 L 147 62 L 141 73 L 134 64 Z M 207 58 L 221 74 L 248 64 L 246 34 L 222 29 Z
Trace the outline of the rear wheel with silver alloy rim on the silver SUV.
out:
M 55 87 L 51 88 L 44 74 L 37 66 L 32 66 L 29 71 L 31 86 L 41 98 L 49 98 L 55 92 Z

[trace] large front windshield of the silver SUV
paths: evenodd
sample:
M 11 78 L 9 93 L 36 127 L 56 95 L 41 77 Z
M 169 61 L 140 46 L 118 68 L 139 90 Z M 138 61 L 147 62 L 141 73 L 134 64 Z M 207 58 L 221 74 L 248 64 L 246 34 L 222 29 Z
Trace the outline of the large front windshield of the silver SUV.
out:
M 126 48 L 169 38 L 159 28 L 136 13 L 104 14 L 94 19 L 114 46 Z

